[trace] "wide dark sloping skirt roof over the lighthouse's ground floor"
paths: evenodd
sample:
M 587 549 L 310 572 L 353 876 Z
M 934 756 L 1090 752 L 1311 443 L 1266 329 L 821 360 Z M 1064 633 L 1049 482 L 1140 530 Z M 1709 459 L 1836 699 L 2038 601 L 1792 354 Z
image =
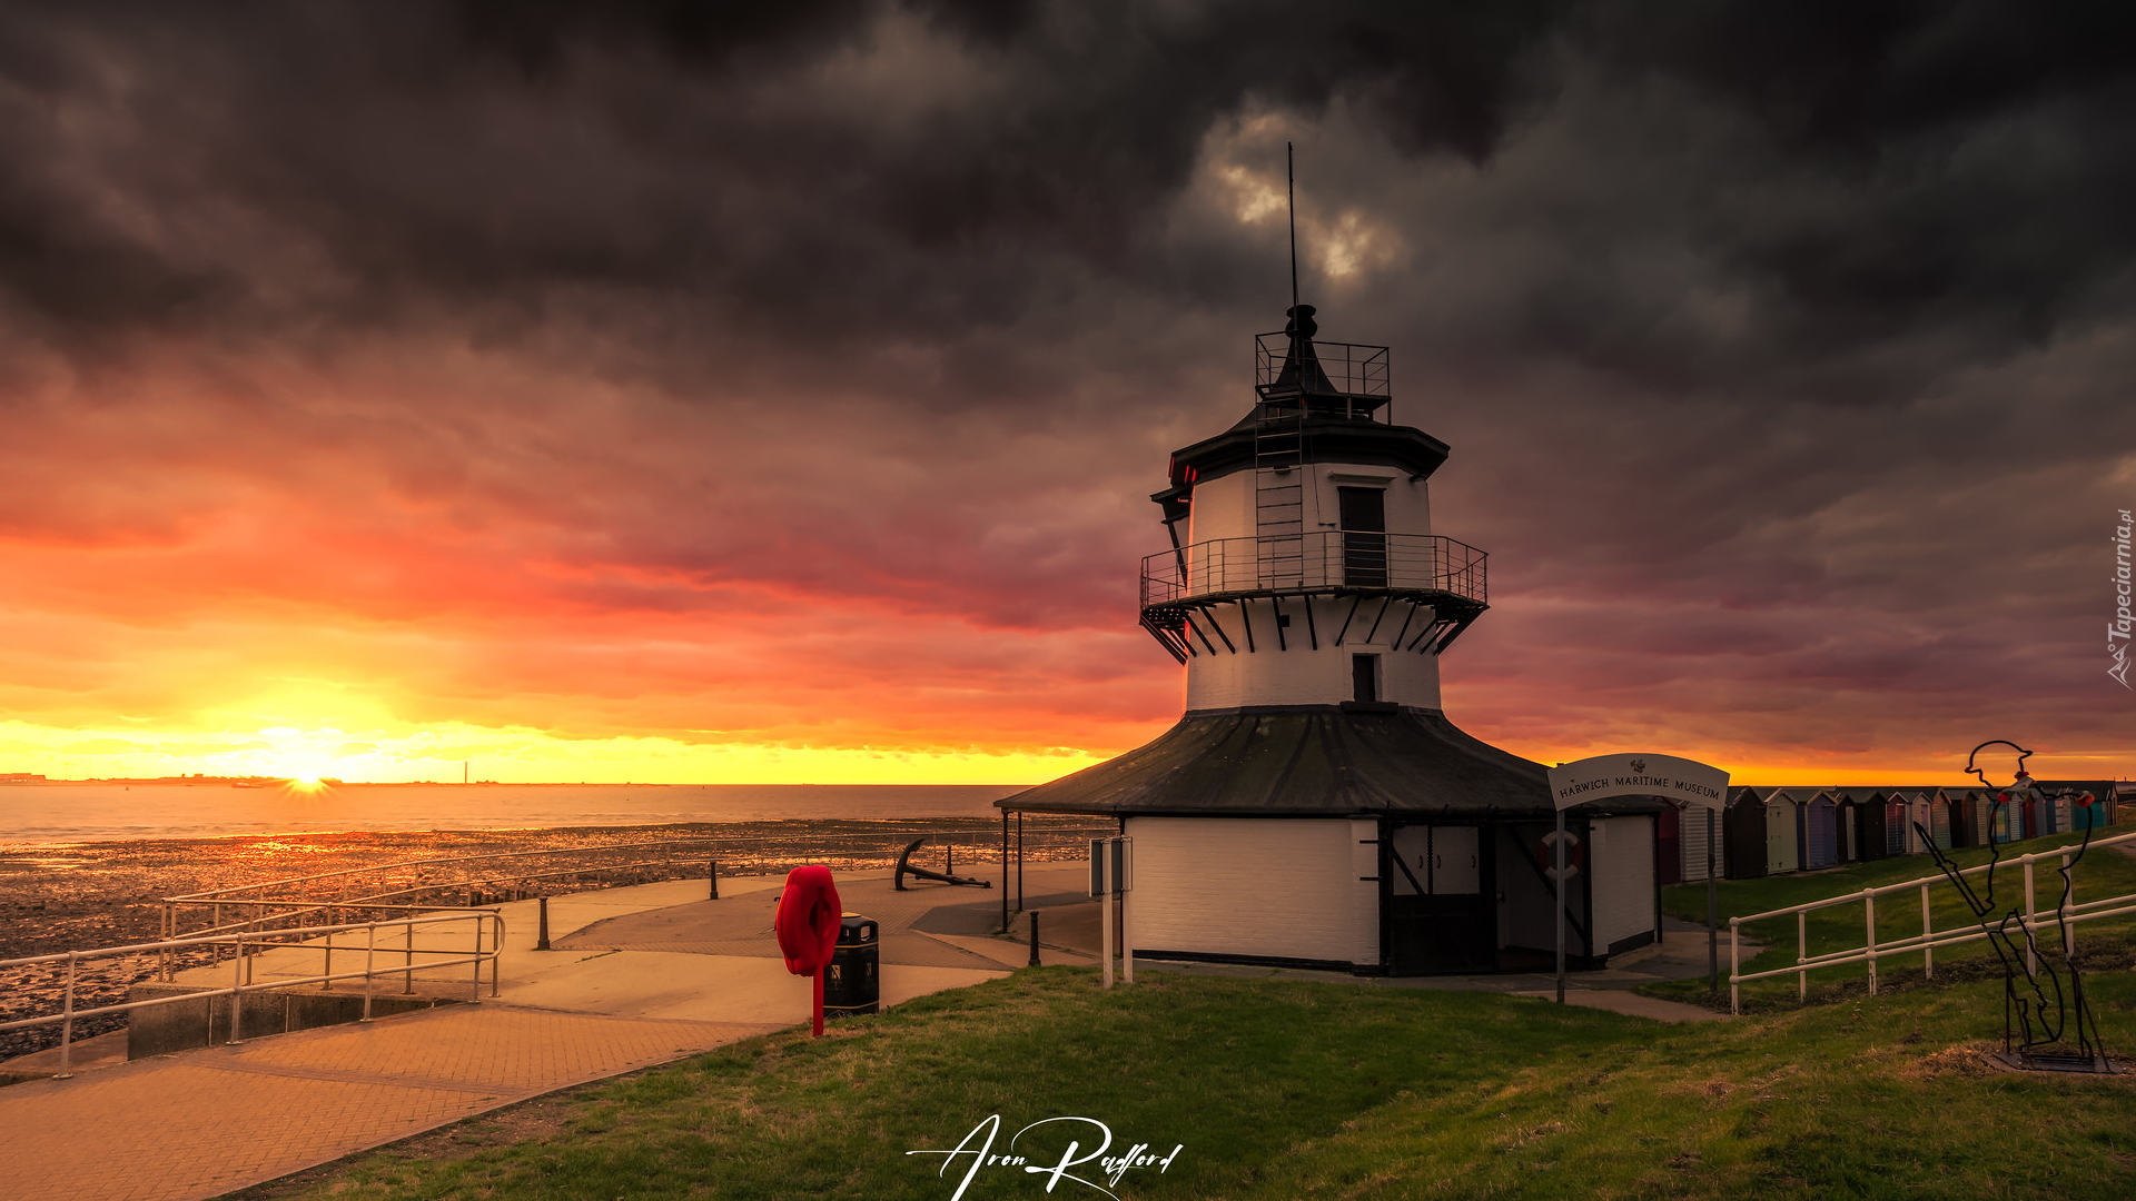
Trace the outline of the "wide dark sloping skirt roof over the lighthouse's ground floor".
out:
M 1393 705 L 1190 712 L 1156 742 L 995 801 L 1012 812 L 1113 816 L 1551 818 L 1540 763 Z M 1611 797 L 1611 814 L 1660 801 Z

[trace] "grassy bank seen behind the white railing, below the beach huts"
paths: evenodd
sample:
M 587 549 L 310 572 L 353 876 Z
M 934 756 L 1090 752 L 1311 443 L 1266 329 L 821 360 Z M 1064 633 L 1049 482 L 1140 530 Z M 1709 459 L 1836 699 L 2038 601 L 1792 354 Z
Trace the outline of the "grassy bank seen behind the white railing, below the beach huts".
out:
M 2098 833 L 2098 838 L 2110 838 L 2117 833 L 2127 833 L 2127 827 L 2110 827 Z M 2057 833 L 2048 838 L 2033 838 L 2027 842 L 2012 842 L 2001 848 L 2004 865 L 1995 872 L 1995 908 L 1993 913 L 2001 917 L 2004 913 L 2025 906 L 2025 872 L 2023 868 L 2010 865 L 2010 859 L 2038 851 L 2053 851 L 2059 846 L 2074 844 L 2078 836 Z M 1963 851 L 1948 853 L 1961 868 L 1972 868 L 1989 861 L 1989 848 L 1967 846 Z M 1719 913 L 1722 923 L 1737 915 L 1766 913 L 1781 906 L 1835 898 L 1841 893 L 1852 893 L 1867 887 L 1897 885 L 1905 880 L 1916 880 L 1922 876 L 1935 876 L 1935 861 L 1927 855 L 1907 855 L 1899 859 L 1875 859 L 1869 863 L 1850 863 L 1846 868 L 1833 868 L 1826 872 L 1805 872 L 1788 876 L 1771 876 L 1762 880 L 1722 880 L 1719 887 Z M 1967 876 L 1976 891 L 1984 887 L 1980 876 Z M 2136 893 L 2136 857 L 2106 846 L 2091 848 L 2085 859 L 2076 865 L 2076 900 L 2095 900 L 2108 895 L 2130 895 Z M 2033 865 L 2033 913 L 2053 915 L 2055 904 L 2061 898 L 2061 876 L 2055 872 L 2053 863 Z M 1944 932 L 1974 930 L 1978 921 L 1969 908 L 1965 908 L 1959 891 L 1948 883 L 1937 878 L 1929 887 L 1931 921 L 1933 927 Z M 1672 885 L 1662 889 L 1662 910 L 1681 917 L 1685 921 L 1705 923 L 1707 919 L 1707 885 Z M 1820 955 L 1826 951 L 1848 951 L 1863 945 L 1867 936 L 1867 915 L 1860 902 L 1816 910 L 1807 921 L 1809 934 L 1809 955 Z M 1766 942 L 1764 951 L 1745 953 L 1743 970 L 1769 970 L 1794 964 L 1796 955 L 1796 919 L 1779 917 L 1766 921 L 1754 921 L 1743 927 L 1745 936 Z M 1920 934 L 1920 893 L 1892 893 L 1878 898 L 1878 940 L 1899 940 L 1914 938 Z M 2051 927 L 2040 932 L 2042 949 L 2057 949 L 2059 938 Z M 2136 957 L 2136 921 L 2130 919 L 2102 919 L 2087 921 L 2076 927 L 2076 945 L 2080 953 L 2080 964 L 2085 970 L 2117 970 L 2127 968 L 2132 957 Z M 1880 960 L 1878 964 L 1878 987 L 1916 987 L 1925 983 L 1920 953 L 1895 955 L 1890 960 Z M 1974 942 L 1965 947 L 1946 947 L 1935 951 L 1935 974 L 1937 981 L 1963 981 L 1963 979 L 1999 979 L 1999 964 L 1993 951 L 1984 942 Z M 1726 1004 L 1726 979 L 1728 979 L 1728 957 L 1722 955 L 1722 996 L 1717 1004 Z M 1867 994 L 1867 972 L 1860 964 L 1843 968 L 1824 968 L 1809 972 L 1811 1000 L 1835 1000 L 1848 994 Z M 1662 996 L 1670 1000 L 1707 1002 L 1707 981 L 1670 981 L 1660 985 L 1645 985 L 1640 992 L 1651 996 Z M 1766 981 L 1752 981 L 1743 985 L 1743 1007 L 1745 1011 L 1769 1011 L 1775 1007 L 1794 1007 L 1796 983 L 1794 977 L 1773 977 Z

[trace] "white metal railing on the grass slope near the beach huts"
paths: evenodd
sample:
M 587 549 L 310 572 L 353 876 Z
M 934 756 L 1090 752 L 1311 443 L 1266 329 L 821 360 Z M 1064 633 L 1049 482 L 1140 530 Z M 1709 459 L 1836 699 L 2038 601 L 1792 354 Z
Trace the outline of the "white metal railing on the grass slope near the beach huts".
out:
M 2136 840 L 2136 833 L 2117 833 L 2115 838 L 2093 840 L 2089 844 L 2089 851 L 2098 851 L 2102 846 L 2117 846 L 2117 844 L 2132 842 L 2132 840 Z M 2038 895 L 2033 891 L 2033 863 L 2038 863 L 2042 859 L 2055 859 L 2061 868 L 2070 868 L 2070 863 L 2076 859 L 2078 851 L 2085 851 L 2085 846 L 2083 844 L 2070 844 L 2070 846 L 2057 846 L 2053 851 L 2033 851 L 2029 855 L 2019 855 L 2019 857 L 2001 859 L 2001 861 L 1995 861 L 1995 863 L 1980 863 L 1976 868 L 1961 868 L 1959 876 L 1982 876 L 1982 874 L 1986 874 L 1991 870 L 2008 870 L 2008 868 L 2023 870 L 2023 874 L 2025 874 L 2025 908 L 2019 915 L 2019 921 L 2023 923 L 2025 934 L 2029 936 L 2029 934 L 2036 934 L 2046 923 L 2057 923 L 2057 925 L 2061 925 L 2061 951 L 2063 951 L 2063 955 L 2070 955 L 2070 953 L 2076 951 L 2076 923 L 2078 921 L 2095 921 L 2095 919 L 2102 919 L 2102 917 L 2127 917 L 2127 915 L 2136 915 L 2136 893 L 2117 895 L 2117 898 L 2100 898 L 2100 900 L 2091 900 L 2091 902 L 2080 902 L 2078 904 L 2076 902 L 2076 880 L 2074 880 L 2074 876 L 2070 878 L 2070 895 L 2061 898 L 2061 902 L 2057 902 L 2057 906 L 2053 910 L 2048 910 L 2046 915 L 2040 913 Z M 1878 960 L 1888 960 L 1892 955 L 1912 955 L 1912 953 L 1918 953 L 1920 955 L 1922 972 L 1927 972 L 1929 979 L 1935 979 L 1935 951 L 1937 951 L 1937 947 L 1957 947 L 1957 945 L 1963 945 L 1963 942 L 1978 942 L 1978 940 L 1989 938 L 1989 932 L 1982 930 L 1978 921 L 1972 923 L 1972 925 L 1967 925 L 1967 927 L 1959 927 L 1959 930 L 1944 930 L 1944 932 L 1935 930 L 1935 915 L 1933 915 L 1933 895 L 1931 895 L 1931 889 L 1935 889 L 1937 885 L 1946 885 L 1948 887 L 1950 885 L 1950 876 L 1944 876 L 1944 874 L 1922 876 L 1918 880 L 1905 880 L 1905 883 L 1899 883 L 1899 885 L 1880 885 L 1880 887 L 1873 887 L 1873 889 L 1860 889 L 1860 891 L 1843 893 L 1843 895 L 1837 895 L 1837 898 L 1824 898 L 1824 900 L 1816 900 L 1816 902 L 1792 904 L 1792 906 L 1786 906 L 1786 908 L 1775 908 L 1775 910 L 1766 910 L 1766 913 L 1752 913 L 1752 915 L 1745 915 L 1745 917 L 1730 917 L 1728 919 L 1728 932 L 1734 938 L 1734 945 L 1728 951 L 1728 1011 L 1730 1013 L 1743 1013 L 1743 985 L 1747 981 L 1762 981 L 1762 979 L 1771 979 L 1771 977 L 1786 977 L 1786 974 L 1792 972 L 1794 974 L 1794 983 L 1796 983 L 1796 998 L 1807 998 L 1809 996 L 1809 972 L 1811 970 L 1816 970 L 1816 968 L 1837 968 L 1837 966 L 1846 966 L 1846 964 L 1867 964 L 1869 966 L 1869 994 L 1875 996 L 1875 985 L 1878 985 L 1875 968 L 1878 968 Z M 1907 938 L 1895 938 L 1895 940 L 1880 940 L 1878 934 L 1875 934 L 1875 900 L 1884 898 L 1884 895 L 1914 893 L 1914 891 L 1920 893 L 1920 934 L 1914 934 L 1914 936 L 1907 936 Z M 1835 906 L 1843 906 L 1843 904 L 1860 904 L 1863 906 L 1863 938 L 1865 938 L 1865 942 L 1860 947 L 1852 947 L 1848 951 L 1826 951 L 1822 955 L 1811 955 L 1809 953 L 1809 915 L 1816 913 L 1816 910 L 1820 910 L 1820 908 L 1835 908 Z M 1769 970 L 1762 970 L 1762 972 L 1743 972 L 1743 938 L 1741 938 L 1743 925 L 1749 923 L 1749 921 L 1766 921 L 1766 919 L 1773 919 L 1773 917 L 1786 917 L 1790 913 L 1794 915 L 1794 964 L 1786 966 L 1786 968 L 1769 968 Z M 2038 968 L 2038 962 L 2033 957 L 2036 955 L 2033 947 L 2036 947 L 2036 940 L 2027 938 L 2025 940 L 2025 957 L 2027 957 L 2025 966 L 2027 966 L 2027 970 L 2036 970 Z

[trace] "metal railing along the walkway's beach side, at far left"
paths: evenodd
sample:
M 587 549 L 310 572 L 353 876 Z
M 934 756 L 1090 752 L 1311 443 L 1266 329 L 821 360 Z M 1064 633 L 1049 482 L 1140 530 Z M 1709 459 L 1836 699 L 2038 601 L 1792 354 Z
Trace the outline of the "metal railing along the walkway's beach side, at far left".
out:
M 444 923 L 472 923 L 472 940 L 466 951 L 459 949 L 434 949 L 417 947 L 417 927 L 444 925 Z M 380 947 L 380 930 L 399 930 L 399 947 Z M 335 936 L 342 934 L 340 945 Z M 361 934 L 361 945 L 352 942 L 352 936 Z M 90 1009 L 79 1009 L 75 1004 L 75 989 L 81 977 L 81 964 L 92 960 L 111 960 L 120 955 L 158 955 L 169 957 L 173 953 L 186 951 L 214 951 L 220 955 L 222 947 L 233 951 L 231 955 L 231 985 L 229 987 L 203 987 L 197 992 L 182 992 L 171 996 L 156 996 L 147 1000 L 128 1000 L 120 1004 L 98 1004 Z M 320 972 L 308 977 L 276 977 L 265 983 L 254 983 L 252 960 L 265 951 L 320 951 L 325 962 Z M 363 981 L 363 1021 L 372 1019 L 372 983 L 378 977 L 404 977 L 404 994 L 414 992 L 417 972 L 431 974 L 440 968 L 472 966 L 470 977 L 470 1000 L 481 1000 L 483 994 L 483 964 L 489 964 L 489 996 L 498 996 L 498 953 L 504 949 L 504 917 L 493 910 L 466 910 L 466 913 L 431 913 L 425 917 L 397 917 L 391 921 L 355 921 L 346 925 L 312 925 L 303 930 L 267 930 L 267 932 L 237 932 L 237 934 L 207 934 L 197 938 L 164 938 L 160 942 L 139 942 L 132 947 L 98 947 L 94 951 L 64 951 L 58 955 L 30 955 L 23 960 L 0 960 L 0 970 L 6 968 L 30 968 L 38 964 L 64 964 L 66 985 L 60 994 L 60 1013 L 45 1017 L 23 1017 L 17 1021 L 0 1021 L 0 1030 L 28 1030 L 30 1026 L 60 1026 L 60 1071 L 64 1079 L 73 1073 L 73 1041 L 75 1021 L 83 1017 L 96 1017 L 105 1013 L 130 1013 L 135 1009 L 150 1009 L 156 1004 L 182 1004 L 188 1000 L 229 996 L 231 998 L 231 1043 L 244 1041 L 244 996 L 252 992 L 282 992 L 295 985 L 318 985 L 327 987 L 333 981 Z M 361 953 L 363 968 L 352 968 L 344 972 L 333 970 L 333 953 Z M 378 957 L 397 957 L 399 966 L 380 966 Z M 431 955 L 425 962 L 417 962 L 417 955 Z M 209 1021 L 214 1017 L 209 1015 Z

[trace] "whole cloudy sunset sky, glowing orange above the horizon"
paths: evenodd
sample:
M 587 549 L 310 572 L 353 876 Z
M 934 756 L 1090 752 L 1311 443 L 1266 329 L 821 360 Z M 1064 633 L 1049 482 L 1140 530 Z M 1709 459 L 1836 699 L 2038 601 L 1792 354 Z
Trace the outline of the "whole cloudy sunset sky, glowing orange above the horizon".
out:
M 1455 722 L 2136 776 L 2130 21 L 11 2 L 0 771 L 1036 782 L 1147 742 L 1147 496 L 1252 400 L 1294 141 L 1305 299 L 1393 346 L 1438 532 L 1491 553 Z

